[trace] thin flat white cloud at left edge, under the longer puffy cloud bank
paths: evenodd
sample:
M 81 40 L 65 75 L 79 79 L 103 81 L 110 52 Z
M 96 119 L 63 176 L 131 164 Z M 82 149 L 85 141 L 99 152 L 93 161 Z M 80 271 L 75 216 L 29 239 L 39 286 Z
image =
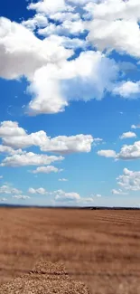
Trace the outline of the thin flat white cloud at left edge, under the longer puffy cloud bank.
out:
M 42 166 L 50 165 L 52 162 L 61 161 L 62 156 L 46 156 L 42 154 L 34 154 L 33 152 L 24 152 L 21 155 L 7 156 L 0 166 Z

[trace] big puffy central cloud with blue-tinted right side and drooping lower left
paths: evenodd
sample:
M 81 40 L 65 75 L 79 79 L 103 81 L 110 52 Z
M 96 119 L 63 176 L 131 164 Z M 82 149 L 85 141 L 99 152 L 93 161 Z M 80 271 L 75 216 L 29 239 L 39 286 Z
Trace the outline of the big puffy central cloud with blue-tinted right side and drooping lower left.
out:
M 33 114 L 57 113 L 64 111 L 70 100 L 101 100 L 105 90 L 112 89 L 117 74 L 116 62 L 100 52 L 81 52 L 60 67 L 50 63 L 34 73 L 29 110 Z

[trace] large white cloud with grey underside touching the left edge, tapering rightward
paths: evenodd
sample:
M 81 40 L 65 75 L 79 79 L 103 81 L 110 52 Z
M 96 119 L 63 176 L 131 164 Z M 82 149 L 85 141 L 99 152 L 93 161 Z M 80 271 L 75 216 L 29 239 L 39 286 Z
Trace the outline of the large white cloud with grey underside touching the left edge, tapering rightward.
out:
M 30 81 L 34 72 L 49 62 L 61 62 L 71 56 L 71 51 L 38 39 L 22 24 L 0 17 L 0 76 L 18 79 L 26 76 Z

